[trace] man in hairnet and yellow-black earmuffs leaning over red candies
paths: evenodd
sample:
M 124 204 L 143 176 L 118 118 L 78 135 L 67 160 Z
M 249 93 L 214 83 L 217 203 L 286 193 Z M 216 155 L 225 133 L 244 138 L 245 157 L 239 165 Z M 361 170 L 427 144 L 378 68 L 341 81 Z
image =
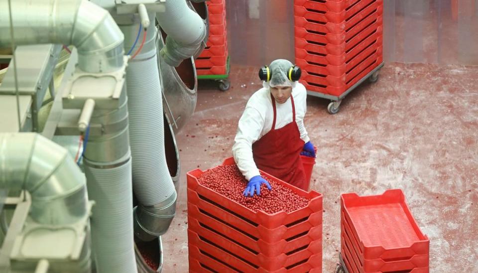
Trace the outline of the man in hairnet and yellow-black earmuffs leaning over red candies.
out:
M 244 196 L 260 195 L 270 184 L 259 169 L 307 190 L 300 154 L 315 157 L 314 145 L 304 127 L 307 91 L 297 82 L 301 70 L 277 59 L 259 69 L 263 88 L 249 98 L 239 120 L 233 155 L 248 183 Z

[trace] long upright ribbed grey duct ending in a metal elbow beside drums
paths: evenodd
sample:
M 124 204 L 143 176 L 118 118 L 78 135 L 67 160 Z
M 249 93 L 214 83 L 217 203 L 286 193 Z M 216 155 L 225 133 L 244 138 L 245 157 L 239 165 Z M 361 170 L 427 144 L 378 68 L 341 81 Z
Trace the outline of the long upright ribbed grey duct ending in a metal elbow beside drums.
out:
M 154 21 L 154 14 L 150 14 L 150 19 Z M 138 17 L 129 24 L 120 24 L 126 36 L 125 48 L 132 46 L 135 35 L 131 33 L 138 27 Z M 154 240 L 167 231 L 175 215 L 177 198 L 164 149 L 155 30 L 149 27 L 143 49 L 126 70 L 133 189 L 139 203 L 134 208 L 134 234 L 142 241 Z

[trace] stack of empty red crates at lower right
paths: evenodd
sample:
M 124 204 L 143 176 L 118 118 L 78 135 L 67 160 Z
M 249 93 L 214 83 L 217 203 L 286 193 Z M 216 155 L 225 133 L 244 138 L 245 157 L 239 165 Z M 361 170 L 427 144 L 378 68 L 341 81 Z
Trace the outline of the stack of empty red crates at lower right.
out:
M 341 255 L 350 273 L 428 273 L 429 240 L 401 190 L 341 198 Z

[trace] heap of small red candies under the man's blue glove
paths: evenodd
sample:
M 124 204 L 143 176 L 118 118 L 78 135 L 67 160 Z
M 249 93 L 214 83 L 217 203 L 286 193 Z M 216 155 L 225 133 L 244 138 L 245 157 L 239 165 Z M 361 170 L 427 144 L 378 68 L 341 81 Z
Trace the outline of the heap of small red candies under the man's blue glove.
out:
M 264 177 L 264 176 L 263 176 Z M 289 188 L 264 177 L 272 190 L 265 184 L 260 186 L 260 195 L 243 196 L 247 180 L 240 173 L 237 165 L 222 165 L 206 170 L 198 181 L 200 184 L 232 199 L 254 212 L 259 210 L 268 214 L 279 211 L 292 212 L 309 204 L 309 199 L 299 196 Z

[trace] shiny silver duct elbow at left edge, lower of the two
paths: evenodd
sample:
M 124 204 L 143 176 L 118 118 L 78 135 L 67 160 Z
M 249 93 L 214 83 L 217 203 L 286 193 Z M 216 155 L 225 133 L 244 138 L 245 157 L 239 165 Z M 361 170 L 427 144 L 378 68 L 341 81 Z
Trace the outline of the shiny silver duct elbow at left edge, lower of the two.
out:
M 0 134 L 0 188 L 28 191 L 40 224 L 72 224 L 88 213 L 85 176 L 65 148 L 35 133 Z

